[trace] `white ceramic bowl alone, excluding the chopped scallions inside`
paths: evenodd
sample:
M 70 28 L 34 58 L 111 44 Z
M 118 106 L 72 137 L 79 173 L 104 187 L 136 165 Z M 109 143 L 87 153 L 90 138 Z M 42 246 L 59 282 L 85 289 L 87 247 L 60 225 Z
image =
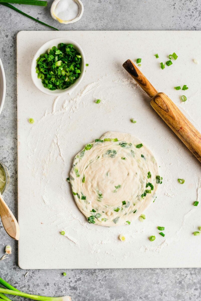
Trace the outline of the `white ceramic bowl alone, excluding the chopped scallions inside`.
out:
M 64 44 L 73 44 L 74 48 L 82 55 L 82 64 L 81 64 L 81 74 L 79 76 L 78 79 L 76 79 L 76 81 L 74 82 L 74 84 L 70 85 L 69 88 L 66 89 L 56 89 L 54 91 L 49 90 L 48 88 L 45 88 L 44 85 L 42 84 L 42 80 L 38 79 L 38 74 L 36 73 L 36 59 L 43 53 L 47 53 L 49 48 L 52 48 L 53 46 L 58 46 L 59 43 L 64 43 Z M 45 44 L 43 44 L 39 50 L 36 52 L 36 54 L 34 55 L 32 64 L 31 64 L 31 78 L 33 83 L 35 84 L 35 86 L 43 93 L 47 94 L 47 95 L 54 95 L 54 96 L 59 96 L 59 95 L 63 95 L 69 92 L 72 92 L 82 81 L 83 76 L 85 75 L 85 69 L 86 69 L 86 63 L 85 63 L 85 55 L 84 52 L 82 50 L 82 48 L 80 47 L 80 45 L 68 38 L 56 38 L 56 39 L 52 39 L 49 40 L 48 42 L 46 42 Z

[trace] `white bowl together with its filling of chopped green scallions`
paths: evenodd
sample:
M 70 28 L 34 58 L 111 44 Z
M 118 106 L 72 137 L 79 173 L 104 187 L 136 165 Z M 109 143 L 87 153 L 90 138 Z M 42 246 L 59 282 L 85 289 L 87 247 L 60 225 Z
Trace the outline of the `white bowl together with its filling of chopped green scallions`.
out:
M 84 74 L 84 52 L 77 42 L 67 38 L 46 42 L 36 52 L 31 65 L 32 81 L 47 95 L 72 92 Z

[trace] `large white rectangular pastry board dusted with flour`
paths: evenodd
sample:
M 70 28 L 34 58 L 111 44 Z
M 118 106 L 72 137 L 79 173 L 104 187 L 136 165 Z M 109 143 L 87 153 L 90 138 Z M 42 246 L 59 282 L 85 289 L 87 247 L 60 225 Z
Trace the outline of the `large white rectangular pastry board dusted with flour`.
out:
M 71 95 L 54 98 L 32 83 L 31 61 L 56 37 L 84 50 L 84 79 Z M 19 265 L 39 268 L 201 267 L 201 165 L 150 107 L 122 68 L 142 58 L 141 70 L 201 131 L 200 31 L 22 31 L 17 35 Z M 61 38 L 62 42 L 62 38 Z M 160 69 L 173 52 L 177 61 Z M 156 59 L 154 54 L 159 54 Z M 187 85 L 187 91 L 174 86 Z M 181 103 L 180 96 L 187 96 Z M 101 99 L 95 104 L 94 99 Z M 35 123 L 29 124 L 28 118 Z M 135 118 L 137 123 L 130 122 Z M 128 132 L 150 147 L 163 183 L 144 222 L 102 227 L 88 224 L 66 178 L 74 156 L 107 131 Z M 181 185 L 178 178 L 184 178 Z M 195 200 L 200 203 L 193 206 Z M 165 237 L 157 226 L 164 226 Z M 60 235 L 65 230 L 66 236 Z M 125 234 L 126 242 L 118 239 Z M 149 236 L 156 240 L 150 242 Z

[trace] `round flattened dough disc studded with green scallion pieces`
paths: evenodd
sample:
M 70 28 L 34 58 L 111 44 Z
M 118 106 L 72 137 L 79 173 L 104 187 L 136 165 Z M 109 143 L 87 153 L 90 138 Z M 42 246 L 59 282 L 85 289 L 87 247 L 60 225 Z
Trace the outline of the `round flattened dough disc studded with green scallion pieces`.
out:
M 133 135 L 107 132 L 96 140 L 73 161 L 69 179 L 76 204 L 89 223 L 129 225 L 156 197 L 158 164 Z

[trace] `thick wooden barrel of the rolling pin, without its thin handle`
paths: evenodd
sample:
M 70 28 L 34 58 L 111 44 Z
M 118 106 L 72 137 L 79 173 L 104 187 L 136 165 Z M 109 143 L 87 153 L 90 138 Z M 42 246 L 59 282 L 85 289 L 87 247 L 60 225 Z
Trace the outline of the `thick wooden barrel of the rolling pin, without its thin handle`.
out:
M 151 99 L 151 106 L 201 162 L 201 134 L 165 93 Z

